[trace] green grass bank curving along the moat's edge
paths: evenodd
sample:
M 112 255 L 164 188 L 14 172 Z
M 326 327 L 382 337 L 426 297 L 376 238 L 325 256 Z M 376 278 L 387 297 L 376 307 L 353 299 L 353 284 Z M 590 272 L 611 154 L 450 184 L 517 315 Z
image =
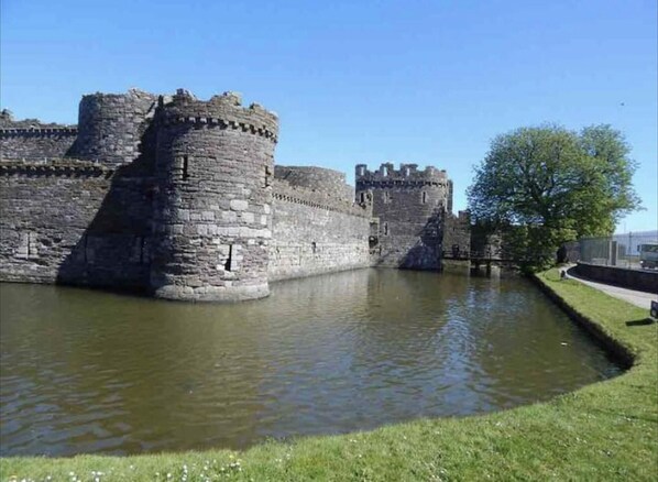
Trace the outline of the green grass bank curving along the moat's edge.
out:
M 467 418 L 420 419 L 368 432 L 266 442 L 244 452 L 6 458 L 2 480 L 656 480 L 657 325 L 647 311 L 550 270 L 537 280 L 630 354 L 615 379 L 550 402 Z M 75 475 L 72 476 L 70 473 Z M 167 479 L 167 473 L 172 475 Z

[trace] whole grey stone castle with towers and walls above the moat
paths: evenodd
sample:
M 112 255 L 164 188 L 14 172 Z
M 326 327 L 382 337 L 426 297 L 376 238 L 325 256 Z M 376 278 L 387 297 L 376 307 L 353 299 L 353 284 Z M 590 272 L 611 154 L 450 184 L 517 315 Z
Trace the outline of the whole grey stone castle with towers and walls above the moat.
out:
M 341 270 L 439 270 L 470 250 L 445 171 L 278 166 L 276 114 L 227 92 L 84 96 L 77 127 L 0 118 L 0 281 L 182 300 L 267 296 Z

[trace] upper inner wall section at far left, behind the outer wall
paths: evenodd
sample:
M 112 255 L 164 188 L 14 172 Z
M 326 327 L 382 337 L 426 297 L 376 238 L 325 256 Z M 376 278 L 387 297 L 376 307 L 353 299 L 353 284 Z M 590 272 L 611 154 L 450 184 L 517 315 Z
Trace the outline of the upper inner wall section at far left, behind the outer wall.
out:
M 76 135 L 75 127 L 0 129 L 1 157 L 30 162 L 64 157 Z

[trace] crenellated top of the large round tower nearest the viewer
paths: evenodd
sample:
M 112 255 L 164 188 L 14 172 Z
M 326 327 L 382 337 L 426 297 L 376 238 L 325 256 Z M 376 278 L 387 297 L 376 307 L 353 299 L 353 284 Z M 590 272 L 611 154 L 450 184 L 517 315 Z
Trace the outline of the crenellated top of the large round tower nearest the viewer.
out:
M 278 117 L 259 103 L 242 107 L 242 99 L 235 92 L 224 92 L 202 101 L 188 91 L 178 89 L 171 102 L 165 103 L 161 100 L 160 107 L 162 122 L 166 125 L 191 124 L 210 129 L 233 129 L 277 142 Z

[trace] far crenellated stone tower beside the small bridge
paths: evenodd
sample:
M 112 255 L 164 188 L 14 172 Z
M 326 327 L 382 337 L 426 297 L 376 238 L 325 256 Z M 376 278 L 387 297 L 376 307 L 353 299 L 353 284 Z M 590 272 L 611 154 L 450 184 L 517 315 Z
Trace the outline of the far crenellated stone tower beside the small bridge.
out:
M 379 218 L 377 265 L 438 270 L 446 211 L 452 205 L 446 171 L 384 163 L 377 171 L 357 165 L 357 199 L 373 194 L 373 216 Z

